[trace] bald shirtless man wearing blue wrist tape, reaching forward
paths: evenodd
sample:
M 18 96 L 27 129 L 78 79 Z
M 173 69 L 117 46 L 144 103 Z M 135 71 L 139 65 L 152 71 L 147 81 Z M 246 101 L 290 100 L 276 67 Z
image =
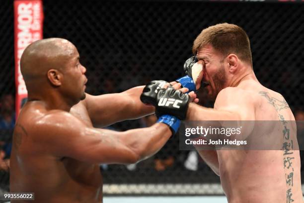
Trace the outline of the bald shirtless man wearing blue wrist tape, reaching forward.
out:
M 125 132 L 94 128 L 93 123 L 106 126 L 151 114 L 154 107 L 140 101 L 144 87 L 120 94 L 85 94 L 86 69 L 68 40 L 50 38 L 30 44 L 20 65 L 28 102 L 14 129 L 10 192 L 33 192 L 34 202 L 102 202 L 99 164 L 148 158 L 179 126 L 177 118 L 167 115 L 151 127 Z M 156 81 L 152 91 L 159 84 Z M 187 103 L 189 97 L 181 100 Z

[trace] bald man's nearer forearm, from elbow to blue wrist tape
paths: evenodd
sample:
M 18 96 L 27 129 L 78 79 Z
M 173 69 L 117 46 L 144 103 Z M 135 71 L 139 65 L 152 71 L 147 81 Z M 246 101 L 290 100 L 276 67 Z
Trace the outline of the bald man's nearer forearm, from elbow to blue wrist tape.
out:
M 171 134 L 168 125 L 155 123 L 151 127 L 126 131 L 122 141 L 136 154 L 137 161 L 141 161 L 151 157 L 163 147 Z

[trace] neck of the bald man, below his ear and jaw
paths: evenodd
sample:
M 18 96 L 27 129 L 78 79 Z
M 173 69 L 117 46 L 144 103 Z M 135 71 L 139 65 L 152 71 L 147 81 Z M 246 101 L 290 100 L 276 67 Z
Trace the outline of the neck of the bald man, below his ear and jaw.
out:
M 64 97 L 59 95 L 57 92 L 48 92 L 45 91 L 45 93 L 41 94 L 34 94 L 29 92 L 28 94 L 28 101 L 40 101 L 43 102 L 48 110 L 64 110 L 69 112 L 71 107 L 74 104 L 69 103 L 67 100 L 65 100 Z

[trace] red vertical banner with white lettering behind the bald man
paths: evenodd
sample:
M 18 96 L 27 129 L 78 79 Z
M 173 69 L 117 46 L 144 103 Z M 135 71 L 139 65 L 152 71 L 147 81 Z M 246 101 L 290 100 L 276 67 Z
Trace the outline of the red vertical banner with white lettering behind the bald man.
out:
M 27 90 L 20 72 L 20 58 L 27 45 L 42 39 L 42 26 L 42 0 L 14 0 L 16 116 L 27 98 Z

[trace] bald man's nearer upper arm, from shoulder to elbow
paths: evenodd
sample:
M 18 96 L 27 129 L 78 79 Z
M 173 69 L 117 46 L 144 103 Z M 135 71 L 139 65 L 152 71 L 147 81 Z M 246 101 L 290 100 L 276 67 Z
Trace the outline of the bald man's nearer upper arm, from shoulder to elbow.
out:
M 87 127 L 73 115 L 54 118 L 45 128 L 46 136 L 40 141 L 57 157 L 89 163 L 129 163 L 136 159 L 133 151 L 121 142 L 122 133 Z

